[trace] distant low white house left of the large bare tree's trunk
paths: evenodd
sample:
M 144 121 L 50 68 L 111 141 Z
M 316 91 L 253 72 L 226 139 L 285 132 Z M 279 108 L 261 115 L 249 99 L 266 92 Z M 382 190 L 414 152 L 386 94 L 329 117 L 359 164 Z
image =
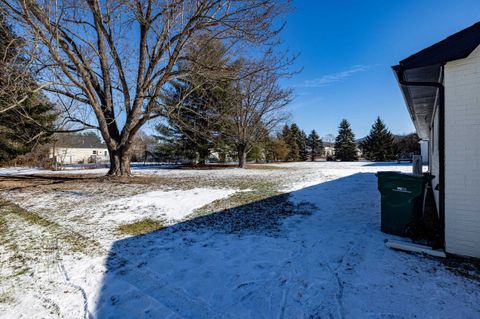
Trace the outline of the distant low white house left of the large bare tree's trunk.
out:
M 108 149 L 96 135 L 58 135 L 50 158 L 59 164 L 86 164 L 109 160 Z

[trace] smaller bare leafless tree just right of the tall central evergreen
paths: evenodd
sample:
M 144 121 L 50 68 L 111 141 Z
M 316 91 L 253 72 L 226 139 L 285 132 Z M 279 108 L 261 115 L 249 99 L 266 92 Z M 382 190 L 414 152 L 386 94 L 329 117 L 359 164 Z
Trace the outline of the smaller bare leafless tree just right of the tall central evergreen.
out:
M 241 168 L 245 167 L 252 146 L 268 138 L 272 129 L 287 119 L 285 108 L 291 101 L 292 91 L 280 87 L 278 80 L 282 76 L 278 70 L 263 69 L 249 72 L 238 81 L 225 134 L 237 148 Z

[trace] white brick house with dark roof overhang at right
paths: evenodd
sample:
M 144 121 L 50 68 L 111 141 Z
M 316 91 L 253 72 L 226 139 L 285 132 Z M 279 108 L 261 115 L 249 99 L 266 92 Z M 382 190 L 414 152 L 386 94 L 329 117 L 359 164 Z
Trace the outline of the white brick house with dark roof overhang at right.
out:
M 429 171 L 447 253 L 480 257 L 480 23 L 393 67 Z M 425 145 L 424 145 L 425 146 Z

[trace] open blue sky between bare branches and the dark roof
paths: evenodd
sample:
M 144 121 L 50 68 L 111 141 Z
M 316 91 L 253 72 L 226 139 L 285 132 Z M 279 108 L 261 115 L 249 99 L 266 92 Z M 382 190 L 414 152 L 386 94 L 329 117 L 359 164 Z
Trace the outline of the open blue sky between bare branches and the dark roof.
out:
M 303 71 L 291 120 L 336 134 L 347 118 L 357 137 L 377 116 L 396 134 L 413 132 L 391 66 L 480 21 L 479 0 L 294 0 L 282 39 Z

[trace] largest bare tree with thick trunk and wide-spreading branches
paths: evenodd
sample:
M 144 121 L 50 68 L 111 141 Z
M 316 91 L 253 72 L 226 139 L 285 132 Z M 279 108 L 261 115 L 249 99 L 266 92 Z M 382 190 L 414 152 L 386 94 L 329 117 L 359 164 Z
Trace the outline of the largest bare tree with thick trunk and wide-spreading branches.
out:
M 65 123 L 98 129 L 109 175 L 130 175 L 133 137 L 159 105 L 177 65 L 200 33 L 266 48 L 289 0 L 0 0 L 30 45 L 39 85 L 63 107 Z M 276 24 L 277 25 L 277 24 Z M 159 111 L 161 110 L 161 111 Z

